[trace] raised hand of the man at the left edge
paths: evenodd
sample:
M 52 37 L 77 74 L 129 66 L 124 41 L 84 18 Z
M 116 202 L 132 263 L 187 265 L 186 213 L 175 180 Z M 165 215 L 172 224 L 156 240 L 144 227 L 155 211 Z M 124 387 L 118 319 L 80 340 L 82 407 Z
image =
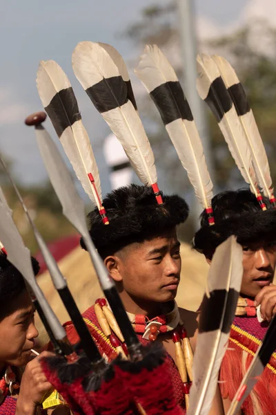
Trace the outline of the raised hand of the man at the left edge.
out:
M 43 351 L 26 365 L 21 379 L 16 415 L 35 414 L 36 407 L 41 403 L 43 396 L 52 389 L 52 385 L 47 382 L 40 365 L 41 358 L 52 355 L 53 353 L 49 351 Z

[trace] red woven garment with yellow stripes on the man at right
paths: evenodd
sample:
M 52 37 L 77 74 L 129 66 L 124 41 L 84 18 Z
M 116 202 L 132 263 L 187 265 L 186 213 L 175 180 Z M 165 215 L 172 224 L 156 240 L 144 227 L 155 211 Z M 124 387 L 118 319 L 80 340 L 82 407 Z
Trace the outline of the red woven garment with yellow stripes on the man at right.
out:
M 268 324 L 260 324 L 257 317 L 235 317 L 230 331 L 228 349 L 222 361 L 220 384 L 223 398 L 233 400 L 242 382 L 242 378 L 253 356 L 259 347 L 259 341 L 264 338 Z M 246 354 L 245 354 L 246 353 Z M 243 363 L 244 362 L 244 363 Z M 244 367 L 243 367 L 244 364 Z M 257 412 L 257 406 L 260 411 Z M 276 414 L 276 358 L 270 361 L 255 388 L 242 405 L 245 415 L 275 415 Z

